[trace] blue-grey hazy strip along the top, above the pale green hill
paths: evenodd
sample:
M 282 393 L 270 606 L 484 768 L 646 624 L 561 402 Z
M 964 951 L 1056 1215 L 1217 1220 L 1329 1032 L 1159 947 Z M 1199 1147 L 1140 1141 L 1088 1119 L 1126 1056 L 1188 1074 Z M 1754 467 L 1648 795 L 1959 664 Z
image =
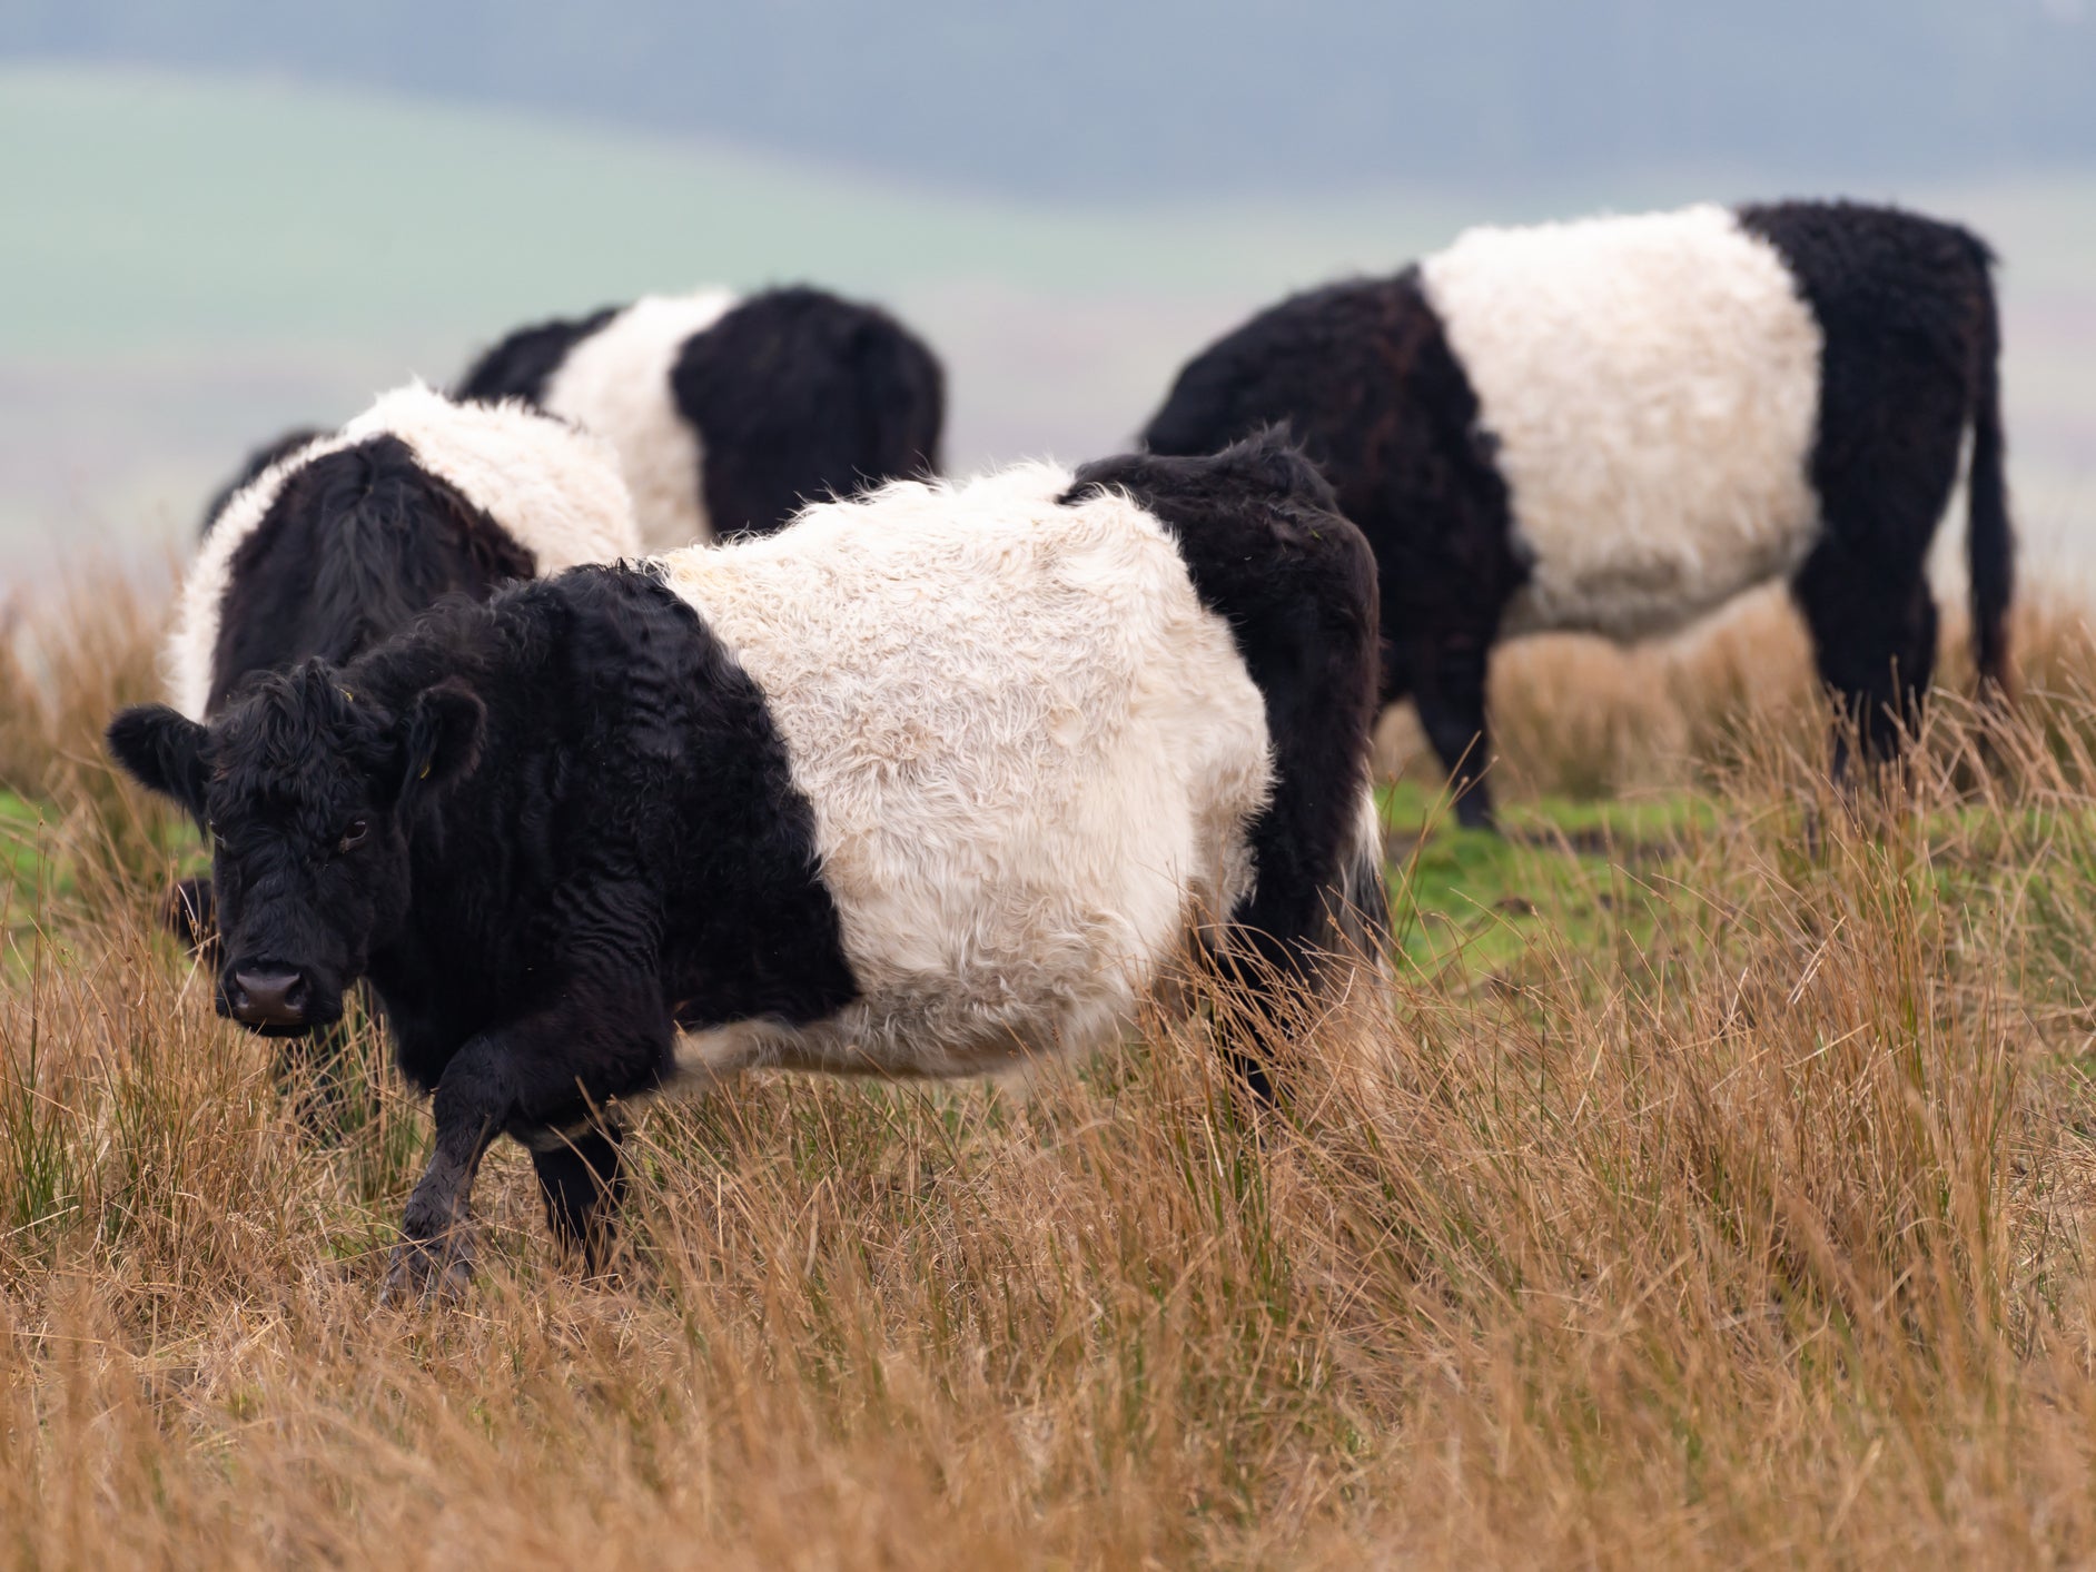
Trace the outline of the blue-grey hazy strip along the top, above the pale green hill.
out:
M 1086 199 L 2096 163 L 2088 0 L 10 0 L 0 54 L 285 71 Z

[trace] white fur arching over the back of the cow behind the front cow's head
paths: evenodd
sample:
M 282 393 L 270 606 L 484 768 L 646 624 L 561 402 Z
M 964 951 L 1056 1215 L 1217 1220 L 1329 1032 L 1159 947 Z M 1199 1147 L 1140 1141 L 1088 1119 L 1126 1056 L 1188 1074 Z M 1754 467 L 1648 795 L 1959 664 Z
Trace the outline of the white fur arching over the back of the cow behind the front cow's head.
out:
M 381 394 L 333 436 L 316 438 L 243 486 L 218 514 L 182 576 L 168 639 L 168 702 L 201 721 L 212 692 L 218 612 L 233 555 L 256 532 L 291 472 L 392 434 L 537 560 L 541 574 L 639 553 L 639 532 L 612 451 L 524 405 L 457 405 L 425 386 Z

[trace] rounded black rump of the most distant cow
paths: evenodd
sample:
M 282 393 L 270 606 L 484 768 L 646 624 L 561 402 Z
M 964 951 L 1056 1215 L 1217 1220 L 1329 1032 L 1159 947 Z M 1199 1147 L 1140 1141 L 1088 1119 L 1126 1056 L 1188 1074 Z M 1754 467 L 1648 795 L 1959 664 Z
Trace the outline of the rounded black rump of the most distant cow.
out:
M 945 373 L 901 323 L 822 289 L 750 296 L 671 371 L 698 430 L 717 537 L 769 534 L 805 501 L 939 470 Z

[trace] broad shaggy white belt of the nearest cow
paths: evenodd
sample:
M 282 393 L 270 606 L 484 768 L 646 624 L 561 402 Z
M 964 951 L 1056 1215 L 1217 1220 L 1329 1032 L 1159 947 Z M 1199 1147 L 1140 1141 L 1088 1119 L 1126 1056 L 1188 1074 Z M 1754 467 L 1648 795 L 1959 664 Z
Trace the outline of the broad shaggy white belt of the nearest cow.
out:
M 1188 916 L 1226 914 L 1266 708 L 1172 539 L 1065 470 L 901 482 L 662 560 L 736 650 L 815 809 L 864 998 L 679 1056 L 975 1075 L 1115 1040 Z

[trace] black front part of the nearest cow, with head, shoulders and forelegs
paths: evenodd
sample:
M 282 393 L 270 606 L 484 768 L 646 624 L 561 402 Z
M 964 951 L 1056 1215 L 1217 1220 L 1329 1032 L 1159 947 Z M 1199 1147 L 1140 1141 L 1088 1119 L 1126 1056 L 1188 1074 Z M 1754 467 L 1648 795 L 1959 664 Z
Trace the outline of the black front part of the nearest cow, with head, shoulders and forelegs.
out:
M 212 824 L 220 1012 L 268 989 L 287 1029 L 325 1027 L 363 977 L 434 1092 L 400 1287 L 467 1270 L 438 1241 L 499 1134 L 595 1251 L 583 1197 L 618 1184 L 599 1115 L 669 1075 L 673 1023 L 855 994 L 763 698 L 646 570 L 449 602 L 346 667 L 256 679 L 210 732 L 145 706 L 109 742 Z

